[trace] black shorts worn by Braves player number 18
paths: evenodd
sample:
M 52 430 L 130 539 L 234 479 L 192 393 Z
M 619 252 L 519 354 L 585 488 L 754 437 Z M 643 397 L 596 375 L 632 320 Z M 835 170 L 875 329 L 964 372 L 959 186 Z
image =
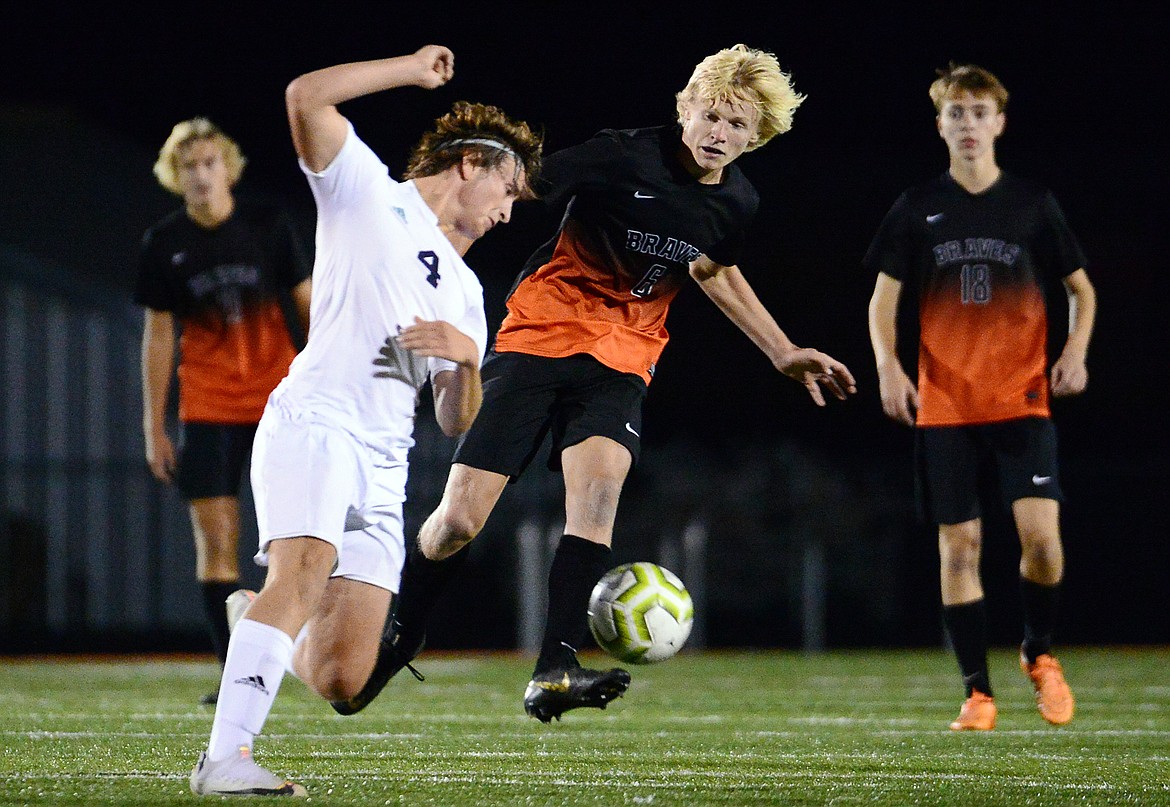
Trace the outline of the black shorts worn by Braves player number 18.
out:
M 978 518 L 984 481 L 994 481 L 1009 509 L 1021 498 L 1064 501 L 1047 418 L 915 429 L 915 461 L 920 511 L 931 524 Z

